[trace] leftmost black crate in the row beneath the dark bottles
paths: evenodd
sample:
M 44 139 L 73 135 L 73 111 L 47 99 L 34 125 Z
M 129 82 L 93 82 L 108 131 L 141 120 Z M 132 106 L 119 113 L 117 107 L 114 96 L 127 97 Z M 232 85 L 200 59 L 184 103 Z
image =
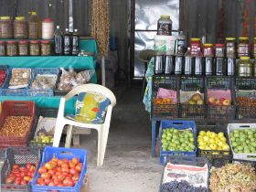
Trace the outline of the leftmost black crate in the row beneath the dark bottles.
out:
M 152 89 L 152 117 L 164 117 L 165 119 L 173 119 L 178 117 L 178 103 L 172 104 L 156 104 L 157 92 L 159 88 L 176 91 L 178 94 L 178 78 L 175 76 L 153 76 L 153 89 Z M 178 101 L 178 95 L 177 95 Z

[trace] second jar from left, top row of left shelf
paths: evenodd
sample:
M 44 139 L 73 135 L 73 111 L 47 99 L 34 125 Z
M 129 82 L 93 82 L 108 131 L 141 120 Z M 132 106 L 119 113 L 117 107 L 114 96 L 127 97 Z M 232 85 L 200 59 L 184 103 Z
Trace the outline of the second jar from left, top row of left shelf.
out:
M 15 38 L 27 38 L 28 26 L 25 16 L 16 16 L 14 21 L 14 37 Z

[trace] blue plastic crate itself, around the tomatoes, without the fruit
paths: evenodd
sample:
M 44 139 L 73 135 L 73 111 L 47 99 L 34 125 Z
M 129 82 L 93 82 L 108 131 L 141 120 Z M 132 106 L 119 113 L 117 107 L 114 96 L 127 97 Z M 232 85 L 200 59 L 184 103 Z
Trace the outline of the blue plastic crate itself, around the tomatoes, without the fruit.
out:
M 74 187 L 48 187 L 48 186 L 38 186 L 37 178 L 39 173 L 34 176 L 31 187 L 33 192 L 48 192 L 51 190 L 56 190 L 59 192 L 78 192 L 82 186 L 83 177 L 87 171 L 87 150 L 64 148 L 64 147 L 53 147 L 46 146 L 43 152 L 42 161 L 40 167 L 51 160 L 52 157 L 58 157 L 59 159 L 67 158 L 71 160 L 73 157 L 80 158 L 80 163 L 83 163 L 82 170 L 80 173 L 80 179 Z

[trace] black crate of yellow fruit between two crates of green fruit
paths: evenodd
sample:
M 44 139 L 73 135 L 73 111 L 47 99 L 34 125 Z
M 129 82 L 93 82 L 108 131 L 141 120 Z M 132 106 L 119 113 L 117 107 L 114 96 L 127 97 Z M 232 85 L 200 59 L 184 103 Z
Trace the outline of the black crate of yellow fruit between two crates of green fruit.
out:
M 197 155 L 208 158 L 211 165 L 223 165 L 232 158 L 227 127 L 197 125 Z

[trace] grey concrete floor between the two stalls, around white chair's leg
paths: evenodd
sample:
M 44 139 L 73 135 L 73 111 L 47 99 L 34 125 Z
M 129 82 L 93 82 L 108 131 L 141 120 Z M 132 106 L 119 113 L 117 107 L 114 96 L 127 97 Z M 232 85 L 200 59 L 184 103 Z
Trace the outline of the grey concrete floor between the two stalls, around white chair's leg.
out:
M 89 153 L 90 192 L 155 192 L 159 189 L 162 166 L 151 157 L 149 114 L 144 111 L 141 86 L 120 85 L 114 93 L 117 105 L 104 165 L 96 166 L 97 133 L 80 136 L 81 148 Z

